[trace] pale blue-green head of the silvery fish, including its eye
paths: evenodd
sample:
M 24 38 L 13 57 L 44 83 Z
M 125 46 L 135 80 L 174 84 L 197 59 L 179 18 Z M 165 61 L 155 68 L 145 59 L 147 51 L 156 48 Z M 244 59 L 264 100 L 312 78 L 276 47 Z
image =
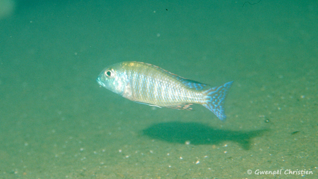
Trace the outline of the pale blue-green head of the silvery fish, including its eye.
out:
M 100 86 L 121 95 L 127 83 L 127 75 L 120 68 L 108 67 L 100 72 L 96 81 Z

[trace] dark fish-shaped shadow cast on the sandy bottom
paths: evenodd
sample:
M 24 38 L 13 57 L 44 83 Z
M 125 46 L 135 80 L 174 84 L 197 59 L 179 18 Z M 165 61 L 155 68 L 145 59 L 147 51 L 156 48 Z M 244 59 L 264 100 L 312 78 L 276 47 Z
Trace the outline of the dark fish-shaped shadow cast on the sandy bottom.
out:
M 251 147 L 250 139 L 261 135 L 265 130 L 230 131 L 210 127 L 196 122 L 166 122 L 151 125 L 142 130 L 142 134 L 150 138 L 172 143 L 189 141 L 192 145 L 216 145 L 224 141 L 238 142 L 243 149 Z

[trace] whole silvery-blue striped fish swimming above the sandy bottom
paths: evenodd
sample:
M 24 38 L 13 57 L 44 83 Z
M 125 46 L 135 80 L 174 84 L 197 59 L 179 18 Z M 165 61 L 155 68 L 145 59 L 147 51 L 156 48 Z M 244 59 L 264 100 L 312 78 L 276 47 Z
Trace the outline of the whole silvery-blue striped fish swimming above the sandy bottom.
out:
M 131 101 L 156 107 L 192 110 L 201 104 L 224 121 L 224 99 L 233 81 L 217 87 L 183 78 L 152 64 L 124 61 L 104 68 L 97 82 Z

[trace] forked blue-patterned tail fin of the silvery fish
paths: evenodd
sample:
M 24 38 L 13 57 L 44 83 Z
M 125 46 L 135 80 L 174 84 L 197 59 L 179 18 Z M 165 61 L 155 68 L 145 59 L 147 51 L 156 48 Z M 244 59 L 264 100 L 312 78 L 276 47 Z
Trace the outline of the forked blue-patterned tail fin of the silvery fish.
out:
M 233 82 L 227 82 L 221 86 L 210 88 L 203 92 L 205 95 L 204 107 L 212 111 L 221 121 L 224 121 L 226 116 L 224 114 L 223 103 L 227 91 L 230 89 Z

